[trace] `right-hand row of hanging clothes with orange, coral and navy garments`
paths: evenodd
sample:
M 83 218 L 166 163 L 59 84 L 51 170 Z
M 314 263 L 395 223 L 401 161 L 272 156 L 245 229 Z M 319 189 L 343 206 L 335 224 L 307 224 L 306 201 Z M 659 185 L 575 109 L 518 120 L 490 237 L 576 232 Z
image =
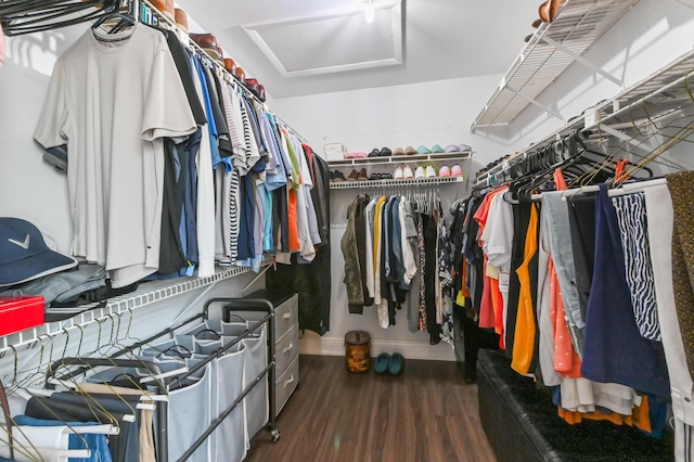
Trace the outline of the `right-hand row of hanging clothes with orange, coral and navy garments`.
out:
M 683 369 L 679 338 L 686 329 L 673 322 L 671 287 L 686 270 L 676 268 L 678 251 L 670 247 L 680 244 L 673 222 L 687 221 L 667 211 L 672 201 L 666 195 L 670 188 L 672 197 L 686 197 L 691 178 L 681 172 L 648 181 L 647 164 L 691 137 L 692 119 L 651 120 L 653 130 L 634 130 L 634 139 L 611 147 L 592 147 L 594 140 L 576 133 L 543 146 L 516 168 L 504 167 L 513 177 L 505 184 L 491 189 L 480 179 L 453 221 L 463 234 L 455 246 L 464 269 L 455 282 L 459 299 L 480 326 L 500 334 L 512 369 L 552 387 L 560 416 L 571 424 L 607 420 L 660 437 L 670 397 L 682 460 L 691 423 L 681 390 L 691 387 L 691 374 L 673 372 Z M 648 137 L 652 153 L 621 157 Z M 494 213 L 499 207 L 506 213 Z M 489 266 L 500 251 L 512 274 L 494 303 L 497 287 L 486 279 L 499 270 Z

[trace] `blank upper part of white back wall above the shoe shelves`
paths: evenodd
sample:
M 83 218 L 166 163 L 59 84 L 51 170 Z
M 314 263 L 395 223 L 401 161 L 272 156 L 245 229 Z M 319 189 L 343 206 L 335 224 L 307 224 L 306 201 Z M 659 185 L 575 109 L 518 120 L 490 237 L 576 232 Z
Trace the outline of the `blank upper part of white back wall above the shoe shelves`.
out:
M 319 154 L 327 143 L 367 153 L 383 146 L 465 143 L 480 158 L 496 158 L 504 154 L 503 143 L 468 128 L 500 79 L 491 75 L 275 99 L 272 108 Z

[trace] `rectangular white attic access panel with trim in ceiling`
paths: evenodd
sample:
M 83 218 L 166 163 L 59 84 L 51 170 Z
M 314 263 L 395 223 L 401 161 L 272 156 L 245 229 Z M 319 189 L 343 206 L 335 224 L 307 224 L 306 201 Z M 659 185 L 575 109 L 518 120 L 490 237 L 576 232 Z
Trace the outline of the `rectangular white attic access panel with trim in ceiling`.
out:
M 242 27 L 285 77 L 402 64 L 400 1 L 374 7 L 372 23 L 356 8 Z

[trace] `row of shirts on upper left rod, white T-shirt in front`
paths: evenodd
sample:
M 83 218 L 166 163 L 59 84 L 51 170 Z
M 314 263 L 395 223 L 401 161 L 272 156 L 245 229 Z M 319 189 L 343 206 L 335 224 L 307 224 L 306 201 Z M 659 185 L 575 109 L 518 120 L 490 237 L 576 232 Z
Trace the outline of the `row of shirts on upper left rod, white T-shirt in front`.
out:
M 312 192 L 310 146 L 194 42 L 181 43 L 169 20 L 140 7 L 157 27 L 113 12 L 59 59 L 35 132 L 46 157 L 60 156 L 54 164 L 67 168 L 75 255 L 104 264 L 114 288 L 194 271 L 208 277 L 216 265 L 257 271 L 269 253 L 280 262 L 288 264 L 294 253 L 301 262 L 312 261 L 324 238 L 317 208 L 325 208 L 327 194 Z M 136 49 L 138 59 L 130 56 Z M 85 56 L 100 64 L 74 65 Z M 120 65 L 124 59 L 129 66 Z M 124 75 L 125 68 L 132 75 Z M 147 76 L 154 74 L 167 85 L 149 88 Z M 61 99 L 65 86 L 77 81 L 104 92 L 91 104 L 95 118 L 79 114 L 78 87 L 67 92 L 75 98 Z M 124 81 L 140 87 L 120 95 Z M 105 104 L 114 94 L 118 100 Z M 133 110 L 138 116 L 130 116 Z M 93 130 L 93 119 L 106 130 Z M 69 127 L 61 126 L 64 120 Z M 132 154 L 115 164 L 98 162 L 121 147 Z M 150 152 L 150 164 L 136 165 Z M 104 171 L 85 175 L 82 167 L 91 162 Z M 102 177 L 110 180 L 94 179 Z M 92 203 L 86 198 L 92 193 L 112 200 Z

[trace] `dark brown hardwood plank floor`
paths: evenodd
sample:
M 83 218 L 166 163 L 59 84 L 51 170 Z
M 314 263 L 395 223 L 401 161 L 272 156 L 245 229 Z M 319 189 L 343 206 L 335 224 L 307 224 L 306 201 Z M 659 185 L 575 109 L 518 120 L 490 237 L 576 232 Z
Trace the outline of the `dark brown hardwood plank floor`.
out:
M 354 374 L 345 359 L 301 356 L 300 387 L 261 432 L 248 462 L 496 461 L 477 413 L 477 385 L 454 362 L 406 361 L 402 375 Z

